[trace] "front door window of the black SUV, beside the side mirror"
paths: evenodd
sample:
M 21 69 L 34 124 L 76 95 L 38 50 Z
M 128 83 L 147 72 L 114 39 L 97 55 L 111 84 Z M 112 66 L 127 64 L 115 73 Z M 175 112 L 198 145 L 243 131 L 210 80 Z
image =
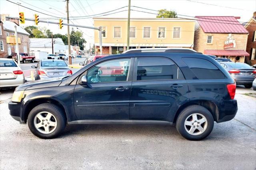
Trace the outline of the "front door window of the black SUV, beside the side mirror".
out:
M 88 83 L 127 81 L 130 59 L 113 59 L 102 62 L 87 72 Z

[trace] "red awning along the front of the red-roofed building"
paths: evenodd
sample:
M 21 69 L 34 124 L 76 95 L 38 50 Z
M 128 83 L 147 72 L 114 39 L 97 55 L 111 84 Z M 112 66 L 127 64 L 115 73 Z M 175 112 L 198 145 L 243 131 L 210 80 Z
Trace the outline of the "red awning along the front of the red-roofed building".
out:
M 242 49 L 205 49 L 204 54 L 209 55 L 229 55 L 229 56 L 249 56 L 250 54 Z

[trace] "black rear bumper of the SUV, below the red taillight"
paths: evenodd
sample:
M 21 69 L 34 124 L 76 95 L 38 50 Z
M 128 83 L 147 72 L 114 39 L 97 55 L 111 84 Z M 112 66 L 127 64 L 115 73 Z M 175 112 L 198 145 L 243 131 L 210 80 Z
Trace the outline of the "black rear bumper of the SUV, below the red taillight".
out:
M 226 122 L 230 121 L 236 116 L 238 107 L 237 101 L 234 100 L 224 100 L 224 101 L 214 101 L 215 105 L 217 106 L 217 113 L 216 114 L 216 122 Z

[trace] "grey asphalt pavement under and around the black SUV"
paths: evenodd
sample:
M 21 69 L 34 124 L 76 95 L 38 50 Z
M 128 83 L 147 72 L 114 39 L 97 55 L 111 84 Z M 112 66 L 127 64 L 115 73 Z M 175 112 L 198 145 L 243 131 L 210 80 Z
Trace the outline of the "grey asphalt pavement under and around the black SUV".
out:
M 252 89 L 237 88 L 236 117 L 201 141 L 166 125 L 68 125 L 44 140 L 10 117 L 13 89 L 0 92 L 0 169 L 256 168 L 256 98 L 238 94 Z

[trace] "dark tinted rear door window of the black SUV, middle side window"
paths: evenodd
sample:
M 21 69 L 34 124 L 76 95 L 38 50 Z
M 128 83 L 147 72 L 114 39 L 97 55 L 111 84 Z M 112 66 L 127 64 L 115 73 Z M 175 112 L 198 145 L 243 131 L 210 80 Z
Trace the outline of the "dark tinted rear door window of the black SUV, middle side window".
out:
M 180 69 L 166 58 L 138 58 L 137 80 L 184 79 Z

